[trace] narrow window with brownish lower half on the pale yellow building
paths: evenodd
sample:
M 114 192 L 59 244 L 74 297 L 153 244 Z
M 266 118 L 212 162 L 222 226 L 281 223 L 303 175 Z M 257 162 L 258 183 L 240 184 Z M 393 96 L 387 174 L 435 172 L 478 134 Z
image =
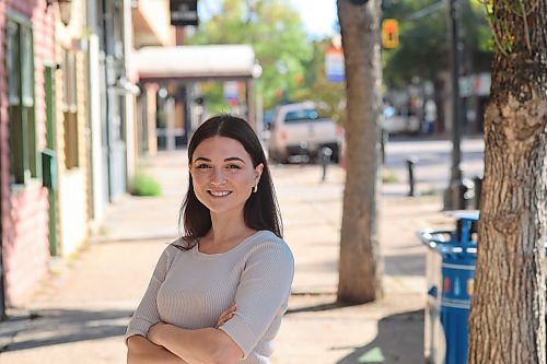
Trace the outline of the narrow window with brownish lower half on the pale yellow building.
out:
M 65 51 L 62 71 L 62 114 L 65 126 L 65 166 L 67 169 L 80 165 L 78 155 L 78 104 L 75 54 Z

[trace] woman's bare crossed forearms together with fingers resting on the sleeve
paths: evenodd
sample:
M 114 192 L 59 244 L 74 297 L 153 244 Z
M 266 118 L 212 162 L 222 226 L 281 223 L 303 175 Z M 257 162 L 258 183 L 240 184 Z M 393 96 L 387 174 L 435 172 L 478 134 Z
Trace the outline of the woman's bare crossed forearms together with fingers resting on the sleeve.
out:
M 243 351 L 218 328 L 233 317 L 235 306 L 219 317 L 214 328 L 187 330 L 171 324 L 159 322 L 150 328 L 148 337 L 127 339 L 128 364 L 217 364 L 236 363 Z

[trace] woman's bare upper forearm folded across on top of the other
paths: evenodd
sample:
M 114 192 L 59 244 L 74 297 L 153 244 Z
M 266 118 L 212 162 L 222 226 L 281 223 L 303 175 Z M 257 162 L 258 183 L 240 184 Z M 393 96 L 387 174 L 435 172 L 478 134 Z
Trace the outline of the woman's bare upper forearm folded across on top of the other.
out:
M 188 363 L 236 363 L 243 357 L 243 351 L 228 333 L 214 328 L 187 330 L 156 324 L 150 329 L 149 340 Z

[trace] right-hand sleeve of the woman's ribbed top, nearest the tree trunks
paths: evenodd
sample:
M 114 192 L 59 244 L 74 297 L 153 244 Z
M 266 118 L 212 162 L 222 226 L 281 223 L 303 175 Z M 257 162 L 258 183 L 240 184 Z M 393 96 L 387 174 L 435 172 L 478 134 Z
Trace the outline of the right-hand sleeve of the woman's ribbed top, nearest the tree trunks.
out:
M 284 314 L 293 275 L 294 258 L 284 242 L 265 242 L 253 248 L 235 294 L 235 315 L 220 327 L 245 356 L 276 317 Z

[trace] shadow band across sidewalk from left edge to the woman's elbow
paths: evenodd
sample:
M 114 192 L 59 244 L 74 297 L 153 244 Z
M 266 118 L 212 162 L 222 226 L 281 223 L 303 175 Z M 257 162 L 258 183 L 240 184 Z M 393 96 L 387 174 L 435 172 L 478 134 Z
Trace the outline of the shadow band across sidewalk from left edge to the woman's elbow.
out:
M 0 325 L 4 342 L 0 353 L 124 336 L 132 312 L 40 309 L 37 315 L 13 317 Z

